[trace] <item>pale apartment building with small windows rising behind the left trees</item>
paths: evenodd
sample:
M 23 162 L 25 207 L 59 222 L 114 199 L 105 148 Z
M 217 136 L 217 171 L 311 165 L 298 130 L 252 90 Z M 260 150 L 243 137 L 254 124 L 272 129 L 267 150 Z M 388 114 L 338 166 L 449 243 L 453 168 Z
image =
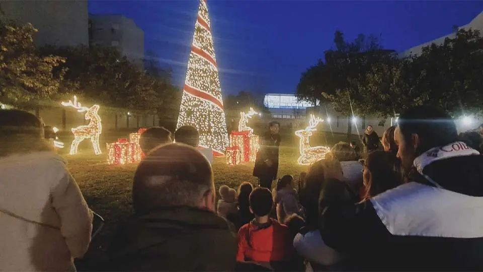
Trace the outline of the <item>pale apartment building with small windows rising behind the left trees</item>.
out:
M 144 59 L 144 31 L 123 15 L 89 15 L 89 43 L 116 47 L 134 63 Z

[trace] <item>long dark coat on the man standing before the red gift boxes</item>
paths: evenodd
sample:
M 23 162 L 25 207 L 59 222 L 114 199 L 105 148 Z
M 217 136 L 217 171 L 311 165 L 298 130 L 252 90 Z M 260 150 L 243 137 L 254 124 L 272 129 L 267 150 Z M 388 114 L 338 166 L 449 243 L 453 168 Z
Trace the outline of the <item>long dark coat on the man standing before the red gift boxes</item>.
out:
M 278 172 L 278 155 L 280 148 L 280 135 L 265 132 L 260 138 L 260 150 L 257 153 L 253 175 L 260 179 L 276 179 Z M 268 166 L 265 160 L 271 160 L 272 166 Z

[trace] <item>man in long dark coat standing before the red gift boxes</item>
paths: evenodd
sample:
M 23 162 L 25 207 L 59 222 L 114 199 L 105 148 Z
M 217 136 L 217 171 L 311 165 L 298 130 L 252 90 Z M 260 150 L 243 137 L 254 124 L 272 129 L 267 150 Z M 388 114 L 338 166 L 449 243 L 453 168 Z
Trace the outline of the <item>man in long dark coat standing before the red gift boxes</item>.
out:
M 272 189 L 272 182 L 277 178 L 278 154 L 280 148 L 280 123 L 270 122 L 270 129 L 260 139 L 253 175 L 258 177 L 259 186 Z

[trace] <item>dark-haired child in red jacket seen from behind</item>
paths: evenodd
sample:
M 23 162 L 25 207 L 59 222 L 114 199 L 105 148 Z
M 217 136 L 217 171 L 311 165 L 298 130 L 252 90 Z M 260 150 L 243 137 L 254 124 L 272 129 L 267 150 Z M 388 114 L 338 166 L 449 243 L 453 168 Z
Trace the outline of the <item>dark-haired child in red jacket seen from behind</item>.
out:
M 268 268 L 289 261 L 293 241 L 287 226 L 269 218 L 273 206 L 269 189 L 258 187 L 250 194 L 250 211 L 255 219 L 238 231 L 237 261 L 254 261 Z

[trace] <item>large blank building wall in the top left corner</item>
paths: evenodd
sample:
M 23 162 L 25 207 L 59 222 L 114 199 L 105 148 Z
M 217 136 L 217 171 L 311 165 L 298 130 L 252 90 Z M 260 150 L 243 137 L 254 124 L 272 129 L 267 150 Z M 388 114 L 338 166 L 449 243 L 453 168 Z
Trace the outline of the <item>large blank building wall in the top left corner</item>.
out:
M 0 6 L 9 19 L 20 24 L 31 23 L 38 32 L 37 45 L 88 45 L 88 2 L 76 0 L 0 0 Z

